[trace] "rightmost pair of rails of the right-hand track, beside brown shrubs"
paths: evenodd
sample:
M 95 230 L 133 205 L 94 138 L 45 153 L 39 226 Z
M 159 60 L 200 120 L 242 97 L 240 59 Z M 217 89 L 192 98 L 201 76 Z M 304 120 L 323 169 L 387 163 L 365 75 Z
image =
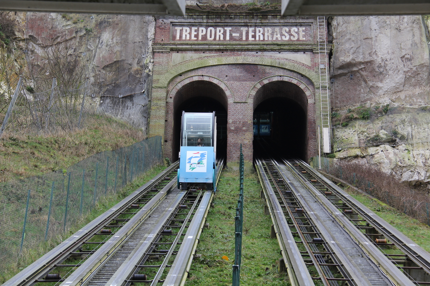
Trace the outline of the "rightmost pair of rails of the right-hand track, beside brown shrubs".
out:
M 430 254 L 427 251 L 304 161 L 284 160 L 284 163 L 296 176 L 307 182 L 318 199 L 330 202 L 326 205 L 331 205 L 336 219 L 347 219 L 350 225 L 367 238 L 360 243 L 373 260 L 380 261 L 381 256 L 384 256 L 415 285 L 430 284 Z M 367 250 L 370 244 L 379 251 Z M 390 248 L 389 251 L 387 247 Z

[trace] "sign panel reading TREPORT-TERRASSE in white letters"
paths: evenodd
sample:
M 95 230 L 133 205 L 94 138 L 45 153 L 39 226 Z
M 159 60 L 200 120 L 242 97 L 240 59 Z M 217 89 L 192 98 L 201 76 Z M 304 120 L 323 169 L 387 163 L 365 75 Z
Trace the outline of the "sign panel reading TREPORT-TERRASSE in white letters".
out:
M 179 42 L 311 42 L 310 25 L 172 26 L 172 41 Z

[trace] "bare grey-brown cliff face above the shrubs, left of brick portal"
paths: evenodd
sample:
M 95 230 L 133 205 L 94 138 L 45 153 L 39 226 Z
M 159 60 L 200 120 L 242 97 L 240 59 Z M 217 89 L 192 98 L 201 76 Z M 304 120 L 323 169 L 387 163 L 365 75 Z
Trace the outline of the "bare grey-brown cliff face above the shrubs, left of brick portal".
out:
M 75 71 L 85 71 L 100 108 L 146 130 L 154 17 L 28 12 L 20 18 L 30 72 L 48 74 L 47 57 L 66 50 Z

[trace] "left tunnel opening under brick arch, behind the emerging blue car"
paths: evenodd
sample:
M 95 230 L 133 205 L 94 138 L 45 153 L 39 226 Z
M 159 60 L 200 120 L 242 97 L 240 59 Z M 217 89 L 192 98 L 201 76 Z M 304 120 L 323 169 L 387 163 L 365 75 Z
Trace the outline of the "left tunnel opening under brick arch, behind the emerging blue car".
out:
M 178 160 L 182 111 L 215 111 L 217 117 L 217 157 L 226 157 L 227 98 L 221 87 L 210 81 L 191 81 L 176 92 L 173 106 L 172 162 Z

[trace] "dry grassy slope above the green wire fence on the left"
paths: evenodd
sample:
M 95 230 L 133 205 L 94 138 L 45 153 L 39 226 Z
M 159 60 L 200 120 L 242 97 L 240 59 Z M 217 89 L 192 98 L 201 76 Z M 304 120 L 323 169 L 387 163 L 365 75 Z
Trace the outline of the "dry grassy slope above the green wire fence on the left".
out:
M 104 118 L 93 128 L 55 136 L 4 134 L 0 140 L 0 182 L 67 169 L 93 154 L 144 138 L 142 130 L 112 118 Z

